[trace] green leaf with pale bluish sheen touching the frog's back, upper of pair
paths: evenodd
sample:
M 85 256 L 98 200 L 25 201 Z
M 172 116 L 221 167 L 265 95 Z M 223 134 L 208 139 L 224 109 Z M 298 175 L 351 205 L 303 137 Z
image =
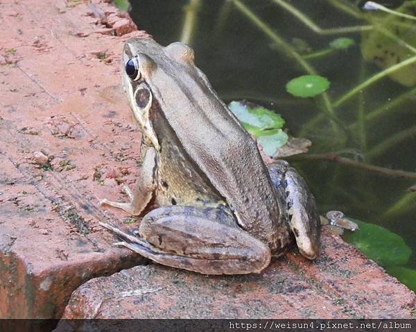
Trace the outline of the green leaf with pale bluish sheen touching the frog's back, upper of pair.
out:
M 229 103 L 228 107 L 249 132 L 249 128 L 251 127 L 263 131 L 266 129 L 283 128 L 284 126 L 284 119 L 267 108 L 250 106 L 250 104 L 241 101 L 232 101 Z

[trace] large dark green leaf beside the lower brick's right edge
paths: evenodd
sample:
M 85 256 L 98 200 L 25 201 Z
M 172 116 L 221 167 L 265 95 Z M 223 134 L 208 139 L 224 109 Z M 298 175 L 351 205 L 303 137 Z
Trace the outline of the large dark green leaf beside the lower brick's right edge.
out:
M 360 251 L 384 267 L 392 265 L 405 265 L 412 251 L 404 240 L 381 226 L 367 224 L 352 219 L 360 229 L 354 232 L 345 232 L 343 238 L 354 244 Z

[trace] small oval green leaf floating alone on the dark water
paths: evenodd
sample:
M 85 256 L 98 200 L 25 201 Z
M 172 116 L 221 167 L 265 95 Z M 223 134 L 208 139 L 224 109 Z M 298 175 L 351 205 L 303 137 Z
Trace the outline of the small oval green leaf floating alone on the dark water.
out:
M 286 90 L 295 97 L 314 97 L 329 88 L 329 81 L 319 75 L 304 75 L 293 78 L 286 84 Z

